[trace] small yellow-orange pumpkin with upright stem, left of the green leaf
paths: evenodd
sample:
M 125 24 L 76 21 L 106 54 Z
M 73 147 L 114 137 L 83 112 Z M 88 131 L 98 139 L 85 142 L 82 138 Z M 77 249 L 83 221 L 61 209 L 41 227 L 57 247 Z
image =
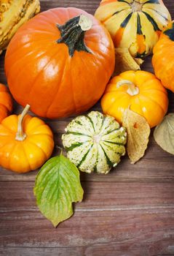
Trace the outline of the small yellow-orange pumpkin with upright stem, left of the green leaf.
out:
M 0 124 L 0 165 L 17 173 L 35 170 L 50 158 L 54 148 L 50 127 L 37 117 L 26 115 L 4 118 Z

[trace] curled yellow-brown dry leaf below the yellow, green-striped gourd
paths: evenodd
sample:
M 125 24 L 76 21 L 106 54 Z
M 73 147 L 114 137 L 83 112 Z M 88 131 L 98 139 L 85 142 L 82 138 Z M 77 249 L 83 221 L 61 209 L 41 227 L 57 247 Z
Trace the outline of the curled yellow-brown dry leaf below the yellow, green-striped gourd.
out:
M 137 59 L 130 55 L 128 48 L 115 48 L 116 64 L 114 75 L 119 75 L 127 70 L 139 70 L 143 59 Z

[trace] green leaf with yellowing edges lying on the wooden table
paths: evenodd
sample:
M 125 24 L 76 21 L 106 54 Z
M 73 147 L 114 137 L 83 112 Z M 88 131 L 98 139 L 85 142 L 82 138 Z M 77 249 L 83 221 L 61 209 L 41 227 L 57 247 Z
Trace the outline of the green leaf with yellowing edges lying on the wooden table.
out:
M 41 213 L 56 227 L 73 214 L 72 203 L 82 201 L 79 170 L 63 155 L 48 160 L 33 189 Z

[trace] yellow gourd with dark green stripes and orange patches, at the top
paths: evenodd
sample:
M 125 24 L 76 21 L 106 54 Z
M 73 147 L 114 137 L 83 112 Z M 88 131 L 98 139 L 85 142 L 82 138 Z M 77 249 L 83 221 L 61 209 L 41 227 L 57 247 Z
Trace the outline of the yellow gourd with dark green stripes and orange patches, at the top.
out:
M 103 0 L 95 12 L 108 29 L 116 48 L 133 57 L 149 55 L 171 17 L 162 0 Z

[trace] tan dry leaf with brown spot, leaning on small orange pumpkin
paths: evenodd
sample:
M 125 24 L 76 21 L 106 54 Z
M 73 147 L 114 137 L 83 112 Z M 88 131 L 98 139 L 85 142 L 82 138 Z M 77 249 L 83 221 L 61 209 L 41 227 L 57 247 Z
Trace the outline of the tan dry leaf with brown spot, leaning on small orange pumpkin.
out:
M 127 154 L 134 164 L 146 151 L 151 129 L 143 116 L 130 109 L 124 112 L 122 125 L 127 128 Z

